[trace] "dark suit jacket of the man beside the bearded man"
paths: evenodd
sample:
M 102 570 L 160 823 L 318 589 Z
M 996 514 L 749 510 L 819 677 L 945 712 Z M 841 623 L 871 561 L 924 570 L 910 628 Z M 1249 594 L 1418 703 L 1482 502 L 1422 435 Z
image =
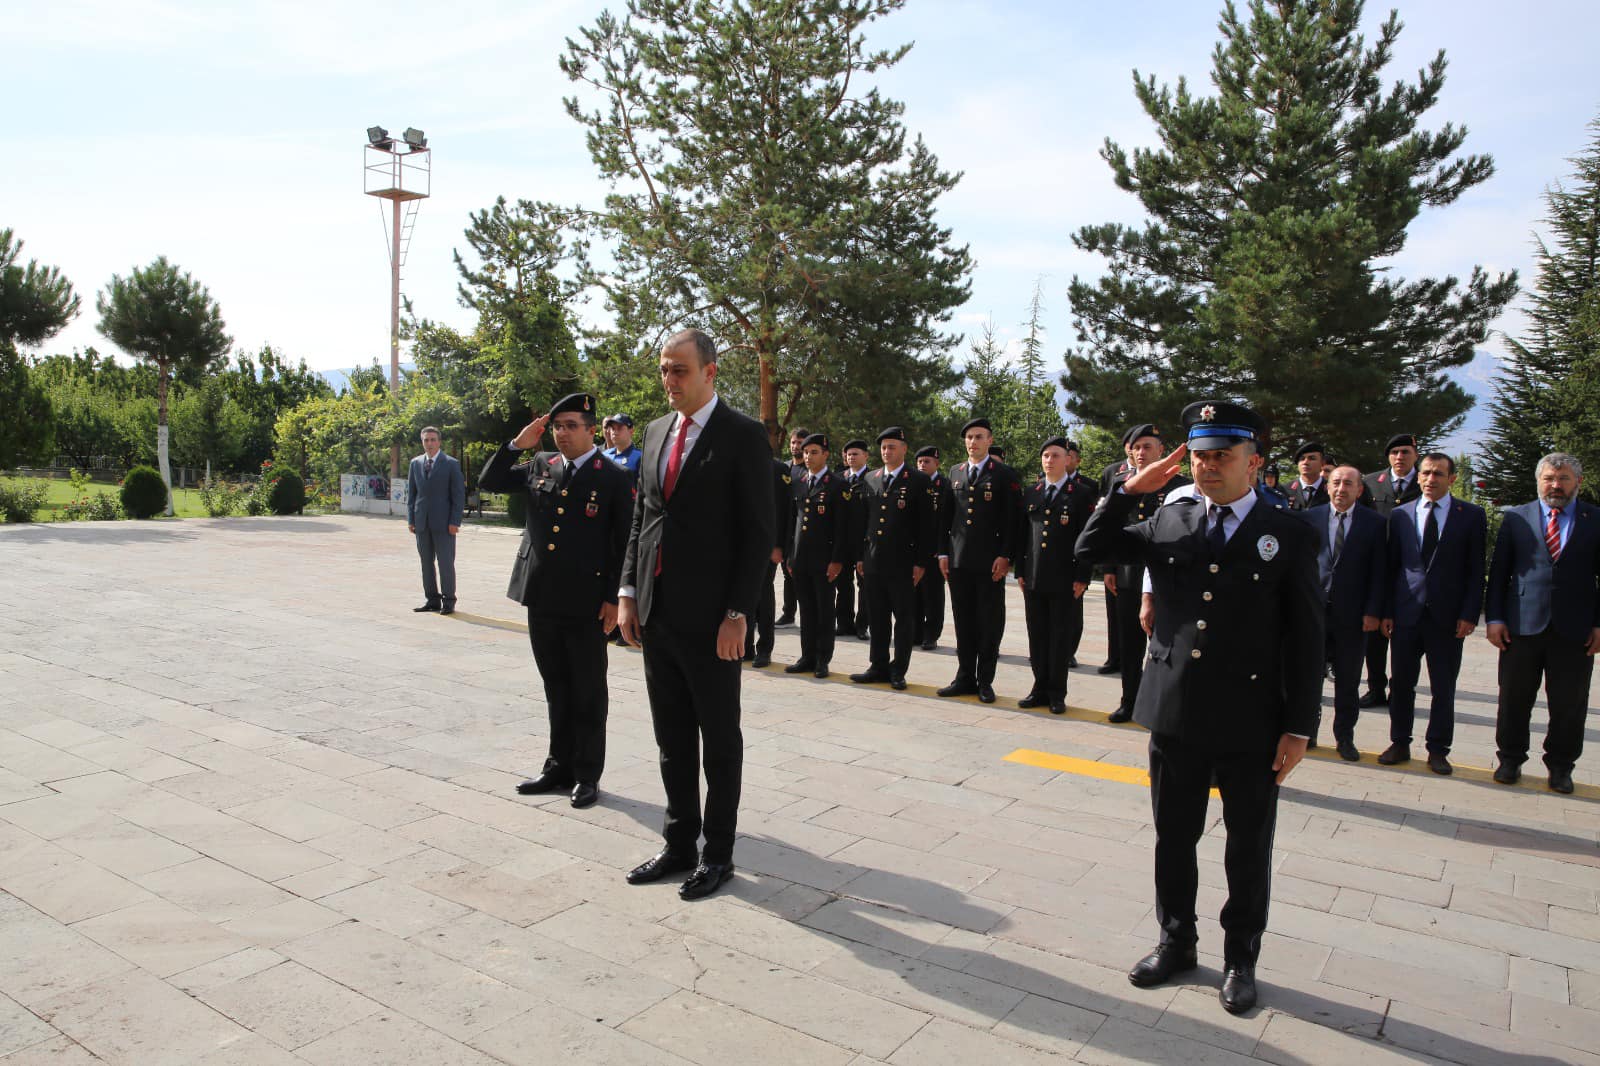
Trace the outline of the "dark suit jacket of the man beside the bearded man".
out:
M 1416 530 L 1418 501 L 1400 504 L 1389 515 L 1389 578 L 1384 618 L 1397 626 L 1414 626 L 1424 615 L 1435 623 L 1477 624 L 1483 615 L 1483 538 L 1488 519 L 1483 507 L 1454 496 L 1450 517 L 1438 535 L 1434 562 L 1422 565 L 1422 539 Z

